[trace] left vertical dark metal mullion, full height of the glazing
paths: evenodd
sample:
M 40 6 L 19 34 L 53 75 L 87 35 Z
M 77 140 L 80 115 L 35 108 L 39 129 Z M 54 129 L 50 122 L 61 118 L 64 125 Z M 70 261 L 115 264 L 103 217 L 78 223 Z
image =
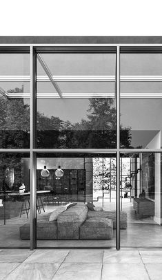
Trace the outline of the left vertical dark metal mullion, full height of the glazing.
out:
M 30 46 L 30 250 L 37 247 L 37 211 L 36 211 L 36 186 L 37 166 L 36 153 L 36 118 L 37 118 L 37 91 L 36 91 L 36 62 L 37 57 L 34 47 Z

